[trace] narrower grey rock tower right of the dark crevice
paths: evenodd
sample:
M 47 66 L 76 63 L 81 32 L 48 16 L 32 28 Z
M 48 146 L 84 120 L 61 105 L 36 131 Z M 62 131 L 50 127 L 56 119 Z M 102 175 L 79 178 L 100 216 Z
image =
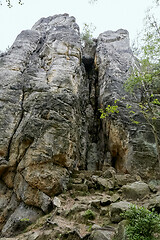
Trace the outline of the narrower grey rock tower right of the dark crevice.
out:
M 119 106 L 119 114 L 112 119 L 103 120 L 103 132 L 108 139 L 108 151 L 111 164 L 118 171 L 137 173 L 143 177 L 159 177 L 156 146 L 153 133 L 145 120 L 136 110 L 135 120 L 143 126 L 132 124 L 126 105 L 136 109 L 134 99 L 124 90 L 124 83 L 129 77 L 130 68 L 136 60 L 129 46 L 129 35 L 126 30 L 107 31 L 99 35 L 96 57 L 98 69 L 99 105 L 101 108 Z M 139 96 L 140 97 L 140 96 Z

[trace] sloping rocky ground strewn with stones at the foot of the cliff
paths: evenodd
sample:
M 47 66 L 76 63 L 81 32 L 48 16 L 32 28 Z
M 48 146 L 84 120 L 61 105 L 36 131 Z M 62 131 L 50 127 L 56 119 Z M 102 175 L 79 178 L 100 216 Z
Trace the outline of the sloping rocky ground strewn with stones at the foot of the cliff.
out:
M 29 225 L 20 219 L 15 235 L 2 240 L 111 240 L 123 239 L 120 213 L 130 204 L 160 212 L 160 181 L 144 182 L 138 175 L 116 174 L 114 168 L 74 171 L 68 188 L 54 197 L 54 209 Z

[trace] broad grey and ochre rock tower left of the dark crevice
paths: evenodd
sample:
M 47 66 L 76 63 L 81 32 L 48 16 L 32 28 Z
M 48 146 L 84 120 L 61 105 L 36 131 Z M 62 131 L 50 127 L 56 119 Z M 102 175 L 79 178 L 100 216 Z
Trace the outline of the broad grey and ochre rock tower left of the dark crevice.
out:
M 75 19 L 41 19 L 17 37 L 0 67 L 1 178 L 18 201 L 46 213 L 51 197 L 66 187 L 67 169 L 79 161 L 82 69 Z

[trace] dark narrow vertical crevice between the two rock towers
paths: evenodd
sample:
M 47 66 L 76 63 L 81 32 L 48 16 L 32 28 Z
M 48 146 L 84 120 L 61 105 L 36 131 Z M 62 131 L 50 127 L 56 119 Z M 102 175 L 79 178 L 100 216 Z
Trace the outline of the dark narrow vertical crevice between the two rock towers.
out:
M 82 63 L 85 68 L 84 79 L 87 87 L 87 98 L 85 108 L 85 125 L 86 125 L 86 170 L 100 170 L 104 161 L 104 145 L 101 139 L 102 124 L 99 113 L 99 82 L 98 71 L 95 66 L 95 54 L 97 40 L 92 44 L 86 45 L 82 51 Z M 83 113 L 82 113 L 83 115 Z

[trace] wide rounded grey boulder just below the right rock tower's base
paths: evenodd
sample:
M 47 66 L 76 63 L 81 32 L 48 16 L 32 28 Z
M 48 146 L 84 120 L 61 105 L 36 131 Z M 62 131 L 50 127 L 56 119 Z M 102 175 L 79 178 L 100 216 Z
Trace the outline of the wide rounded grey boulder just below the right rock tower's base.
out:
M 127 199 L 138 200 L 149 195 L 150 190 L 144 182 L 134 182 L 122 187 L 122 194 Z

